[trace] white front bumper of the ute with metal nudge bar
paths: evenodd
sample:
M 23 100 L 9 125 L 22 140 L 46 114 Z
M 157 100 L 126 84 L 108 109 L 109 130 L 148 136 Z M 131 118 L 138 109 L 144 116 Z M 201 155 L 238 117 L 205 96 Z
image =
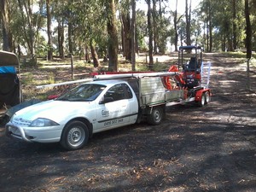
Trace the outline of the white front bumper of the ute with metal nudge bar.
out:
M 27 127 L 14 125 L 9 122 L 5 125 L 5 135 L 15 137 L 25 142 L 56 143 L 61 140 L 63 125 L 46 127 Z

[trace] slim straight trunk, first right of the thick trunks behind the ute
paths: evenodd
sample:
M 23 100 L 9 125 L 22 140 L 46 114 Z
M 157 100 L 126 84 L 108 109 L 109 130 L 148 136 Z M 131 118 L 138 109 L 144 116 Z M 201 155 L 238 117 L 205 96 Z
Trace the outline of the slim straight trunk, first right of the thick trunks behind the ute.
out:
M 153 70 L 153 32 L 151 26 L 151 0 L 147 0 L 148 3 L 148 48 L 149 48 L 149 69 Z

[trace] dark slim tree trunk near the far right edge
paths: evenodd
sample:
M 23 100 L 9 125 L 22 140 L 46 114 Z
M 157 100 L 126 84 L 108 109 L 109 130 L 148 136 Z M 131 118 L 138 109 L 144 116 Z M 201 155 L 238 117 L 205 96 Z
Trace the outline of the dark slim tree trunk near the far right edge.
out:
M 252 26 L 250 21 L 250 10 L 248 0 L 245 0 L 245 18 L 246 18 L 246 48 L 247 48 L 247 59 L 252 57 Z

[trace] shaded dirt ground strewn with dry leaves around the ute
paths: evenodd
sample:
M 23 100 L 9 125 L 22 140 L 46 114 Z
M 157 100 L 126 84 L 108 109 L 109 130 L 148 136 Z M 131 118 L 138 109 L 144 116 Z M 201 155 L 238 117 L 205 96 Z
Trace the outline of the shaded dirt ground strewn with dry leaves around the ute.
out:
M 0 191 L 256 191 L 256 73 L 212 61 L 212 101 L 168 107 L 161 125 L 97 133 L 77 151 L 23 143 L 0 130 Z

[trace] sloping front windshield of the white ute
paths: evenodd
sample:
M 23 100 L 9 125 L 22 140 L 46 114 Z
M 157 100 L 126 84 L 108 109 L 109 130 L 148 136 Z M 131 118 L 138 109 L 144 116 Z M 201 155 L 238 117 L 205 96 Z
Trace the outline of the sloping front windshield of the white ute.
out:
M 69 90 L 64 95 L 60 96 L 56 100 L 58 101 L 70 101 L 70 102 L 91 102 L 96 100 L 106 88 L 102 84 L 82 84 L 73 90 Z

